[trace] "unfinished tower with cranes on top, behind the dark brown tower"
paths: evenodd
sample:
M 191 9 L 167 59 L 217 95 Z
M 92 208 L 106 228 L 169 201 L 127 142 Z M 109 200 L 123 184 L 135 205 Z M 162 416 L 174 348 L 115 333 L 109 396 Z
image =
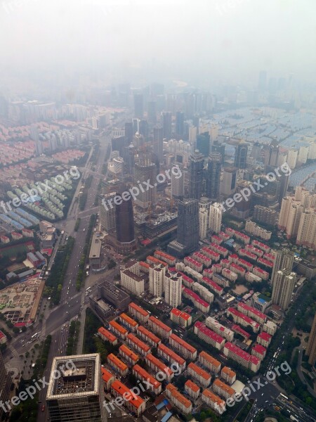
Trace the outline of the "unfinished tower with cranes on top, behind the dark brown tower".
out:
M 135 162 L 135 173 L 134 181 L 135 184 L 141 184 L 143 189 L 140 188 L 135 203 L 138 207 L 147 210 L 149 206 L 156 203 L 156 191 L 157 191 L 157 166 L 150 159 L 150 155 L 140 154 Z M 147 188 L 148 185 L 144 182 L 149 181 L 152 188 Z M 136 185 L 137 186 L 137 185 Z

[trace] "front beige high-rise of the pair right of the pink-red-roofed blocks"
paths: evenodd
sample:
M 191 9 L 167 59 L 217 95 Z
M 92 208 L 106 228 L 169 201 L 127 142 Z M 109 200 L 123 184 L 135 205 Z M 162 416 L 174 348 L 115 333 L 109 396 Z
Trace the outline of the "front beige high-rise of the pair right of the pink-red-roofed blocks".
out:
M 272 289 L 272 303 L 279 305 L 282 309 L 287 310 L 291 302 L 292 293 L 296 283 L 296 273 L 289 269 L 282 269 L 275 273 Z

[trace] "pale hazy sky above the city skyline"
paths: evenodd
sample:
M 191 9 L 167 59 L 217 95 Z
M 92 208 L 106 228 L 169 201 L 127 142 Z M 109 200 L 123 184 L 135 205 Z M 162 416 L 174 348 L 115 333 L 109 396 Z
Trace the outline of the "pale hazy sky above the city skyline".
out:
M 315 82 L 315 0 L 0 0 L 0 52 L 6 70 Z

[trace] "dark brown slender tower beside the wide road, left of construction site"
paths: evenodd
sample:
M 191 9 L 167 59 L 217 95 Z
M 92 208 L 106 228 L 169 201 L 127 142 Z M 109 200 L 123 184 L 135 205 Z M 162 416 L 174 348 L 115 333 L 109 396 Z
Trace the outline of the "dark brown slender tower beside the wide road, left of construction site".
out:
M 121 186 L 117 193 L 121 195 L 125 191 L 127 191 L 126 186 Z M 121 204 L 115 206 L 115 223 L 117 227 L 117 241 L 121 243 L 122 247 L 126 246 L 126 250 L 128 250 L 129 246 L 132 247 L 136 243 L 132 198 L 123 200 Z

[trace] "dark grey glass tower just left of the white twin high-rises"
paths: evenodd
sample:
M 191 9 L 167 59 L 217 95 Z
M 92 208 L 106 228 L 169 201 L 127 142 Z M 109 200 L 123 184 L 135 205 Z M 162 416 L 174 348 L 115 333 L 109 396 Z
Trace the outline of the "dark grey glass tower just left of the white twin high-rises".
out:
M 177 241 L 187 253 L 199 247 L 199 201 L 186 199 L 178 204 Z

